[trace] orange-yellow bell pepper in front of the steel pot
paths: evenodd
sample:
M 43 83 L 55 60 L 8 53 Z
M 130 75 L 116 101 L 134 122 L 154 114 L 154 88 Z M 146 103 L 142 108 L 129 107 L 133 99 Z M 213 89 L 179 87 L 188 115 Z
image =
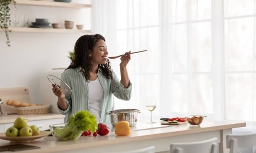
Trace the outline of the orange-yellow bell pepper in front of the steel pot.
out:
M 128 121 L 120 121 L 115 124 L 115 134 L 118 136 L 127 136 L 131 134 L 131 127 Z

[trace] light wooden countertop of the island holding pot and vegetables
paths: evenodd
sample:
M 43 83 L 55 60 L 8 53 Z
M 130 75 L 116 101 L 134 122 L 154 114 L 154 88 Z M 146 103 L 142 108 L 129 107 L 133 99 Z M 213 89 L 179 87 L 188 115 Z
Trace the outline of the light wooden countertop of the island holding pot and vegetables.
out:
M 159 123 L 158 123 L 159 124 Z M 151 125 L 151 124 L 150 124 Z M 115 133 L 111 132 L 106 136 L 82 136 L 77 140 L 71 141 L 58 141 L 55 137 L 45 137 L 37 139 L 30 143 L 25 143 L 28 145 L 39 146 L 40 149 L 24 150 L 17 152 L 58 152 L 66 151 L 72 152 L 76 149 L 87 150 L 93 147 L 101 148 L 108 147 L 116 144 L 127 144 L 132 142 L 142 142 L 148 140 L 156 140 L 159 142 L 159 139 L 165 139 L 166 137 L 177 137 L 191 134 L 203 134 L 207 135 L 207 132 L 214 132 L 226 129 L 232 129 L 236 127 L 246 126 L 245 122 L 232 122 L 232 121 L 204 121 L 199 127 L 190 127 L 189 124 L 182 125 L 165 125 L 158 126 L 156 128 L 146 130 L 135 130 L 131 132 L 129 136 L 116 136 Z M 204 134 L 205 133 L 205 134 Z M 195 139 L 195 138 L 194 138 Z M 176 139 L 178 140 L 178 139 Z M 1 146 L 10 144 L 10 141 L 0 140 Z M 155 143 L 154 143 L 155 144 Z M 102 149 L 102 148 L 101 148 Z

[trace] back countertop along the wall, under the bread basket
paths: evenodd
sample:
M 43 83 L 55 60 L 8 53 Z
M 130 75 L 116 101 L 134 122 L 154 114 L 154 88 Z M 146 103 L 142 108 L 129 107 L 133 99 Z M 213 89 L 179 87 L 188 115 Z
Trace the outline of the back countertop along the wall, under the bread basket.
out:
M 19 116 L 24 117 L 27 119 L 27 121 L 33 121 L 33 120 L 44 120 L 44 119 L 54 119 L 54 118 L 65 118 L 65 115 L 62 114 L 34 114 L 34 115 L 17 115 L 17 114 L 11 114 L 11 115 L 0 115 L 0 124 L 4 123 L 13 123 L 15 119 Z

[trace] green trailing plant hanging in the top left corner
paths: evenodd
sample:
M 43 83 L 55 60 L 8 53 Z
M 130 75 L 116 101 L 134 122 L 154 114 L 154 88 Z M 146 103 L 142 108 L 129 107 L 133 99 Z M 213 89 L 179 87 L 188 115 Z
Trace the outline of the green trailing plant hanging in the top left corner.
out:
M 8 29 L 9 25 L 11 25 L 11 18 L 10 18 L 10 7 L 9 5 L 11 3 L 14 3 L 14 6 L 16 8 L 16 2 L 15 0 L 0 0 L 0 28 L 5 29 L 5 35 L 6 35 L 6 44 L 10 46 L 10 30 Z

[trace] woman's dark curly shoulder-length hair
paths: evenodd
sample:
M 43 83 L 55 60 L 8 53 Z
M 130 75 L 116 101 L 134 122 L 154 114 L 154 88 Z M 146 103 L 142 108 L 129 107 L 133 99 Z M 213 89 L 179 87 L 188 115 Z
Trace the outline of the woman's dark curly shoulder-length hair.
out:
M 69 65 L 69 68 L 77 68 L 81 66 L 82 75 L 86 77 L 86 80 L 89 82 L 90 71 L 93 69 L 90 62 L 90 50 L 92 51 L 95 44 L 99 40 L 104 40 L 105 38 L 100 34 L 95 35 L 83 35 L 77 39 L 74 48 L 74 58 Z M 113 79 L 112 69 L 110 66 L 109 59 L 106 60 L 106 64 L 99 64 L 98 68 L 102 70 L 103 75 L 107 79 Z

